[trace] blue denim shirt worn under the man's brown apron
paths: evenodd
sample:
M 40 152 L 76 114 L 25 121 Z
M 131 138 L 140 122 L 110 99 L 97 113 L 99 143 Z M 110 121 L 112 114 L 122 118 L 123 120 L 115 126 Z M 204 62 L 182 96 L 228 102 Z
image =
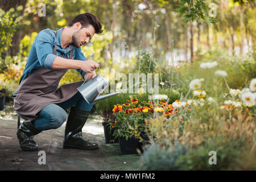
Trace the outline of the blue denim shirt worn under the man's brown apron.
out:
M 72 44 L 70 44 L 67 48 L 61 47 L 61 32 L 63 28 L 57 30 L 57 38 L 55 37 L 56 31 L 50 30 L 47 28 L 46 30 L 42 30 L 36 36 L 34 42 L 32 43 L 30 53 L 28 55 L 27 63 L 25 65 L 25 69 L 23 71 L 23 75 L 19 80 L 22 82 L 24 78 L 26 78 L 31 73 L 35 72 L 36 69 L 40 67 L 44 67 L 46 69 L 52 69 L 52 63 L 56 56 L 69 58 L 69 51 L 73 49 L 73 59 L 85 61 L 86 58 L 81 51 L 81 48 L 76 48 Z M 53 48 L 57 44 L 57 50 L 55 54 L 52 54 Z M 81 69 L 77 69 L 80 72 L 82 78 L 84 78 L 85 72 Z

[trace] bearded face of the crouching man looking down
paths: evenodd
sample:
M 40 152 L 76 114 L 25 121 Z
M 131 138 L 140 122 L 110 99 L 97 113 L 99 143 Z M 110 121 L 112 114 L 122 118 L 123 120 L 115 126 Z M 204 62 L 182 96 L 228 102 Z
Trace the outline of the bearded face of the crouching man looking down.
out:
M 72 35 L 73 45 L 79 48 L 84 44 L 88 44 L 89 40 L 92 39 L 94 34 L 94 27 L 90 24 L 88 27 L 80 28 Z

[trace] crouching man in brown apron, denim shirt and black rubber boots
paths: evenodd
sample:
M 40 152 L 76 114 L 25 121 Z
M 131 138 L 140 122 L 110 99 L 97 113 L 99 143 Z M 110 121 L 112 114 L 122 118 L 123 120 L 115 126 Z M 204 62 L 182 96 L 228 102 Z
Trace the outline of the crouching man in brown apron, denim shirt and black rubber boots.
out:
M 96 16 L 85 13 L 77 15 L 67 28 L 46 29 L 36 36 L 14 93 L 14 109 L 26 119 L 17 131 L 22 150 L 37 150 L 34 135 L 57 129 L 66 120 L 64 148 L 98 148 L 82 138 L 82 127 L 93 106 L 77 90 L 82 81 L 57 87 L 68 69 L 77 69 L 84 79 L 88 76 L 87 80 L 96 76 L 94 70 L 99 64 L 86 60 L 80 47 L 102 31 Z M 69 107 L 67 118 L 65 110 Z

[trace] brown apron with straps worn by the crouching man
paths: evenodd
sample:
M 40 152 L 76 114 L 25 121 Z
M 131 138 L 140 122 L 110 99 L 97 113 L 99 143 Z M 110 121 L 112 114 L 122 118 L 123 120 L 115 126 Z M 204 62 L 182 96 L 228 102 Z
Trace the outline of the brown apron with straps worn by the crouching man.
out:
M 57 31 L 56 31 L 57 37 Z M 52 51 L 55 54 L 57 45 Z M 72 59 L 73 50 L 69 52 L 69 59 Z M 68 69 L 46 69 L 40 67 L 28 75 L 18 89 L 14 92 L 14 109 L 26 119 L 33 121 L 39 118 L 36 115 L 40 110 L 49 104 L 56 104 L 67 101 L 77 92 L 77 88 L 83 81 L 62 85 L 57 88 L 61 78 Z

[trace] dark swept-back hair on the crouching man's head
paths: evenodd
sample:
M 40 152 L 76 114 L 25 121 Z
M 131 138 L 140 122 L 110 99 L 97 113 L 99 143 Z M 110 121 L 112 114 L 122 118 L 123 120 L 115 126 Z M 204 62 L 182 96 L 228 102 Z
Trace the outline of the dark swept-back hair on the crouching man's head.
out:
M 96 34 L 101 34 L 103 32 L 102 26 L 98 18 L 90 13 L 84 13 L 77 15 L 69 24 L 68 27 L 72 27 L 76 22 L 80 22 L 82 28 L 88 27 L 89 24 L 92 25 L 95 29 Z

